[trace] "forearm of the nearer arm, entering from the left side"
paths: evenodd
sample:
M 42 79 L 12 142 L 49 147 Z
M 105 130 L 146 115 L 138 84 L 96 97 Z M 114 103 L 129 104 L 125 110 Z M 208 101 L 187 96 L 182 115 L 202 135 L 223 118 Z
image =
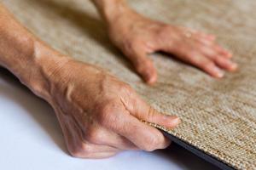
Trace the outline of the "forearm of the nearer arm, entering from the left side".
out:
M 35 94 L 47 98 L 50 74 L 67 60 L 58 55 L 21 26 L 0 3 L 0 65 Z

